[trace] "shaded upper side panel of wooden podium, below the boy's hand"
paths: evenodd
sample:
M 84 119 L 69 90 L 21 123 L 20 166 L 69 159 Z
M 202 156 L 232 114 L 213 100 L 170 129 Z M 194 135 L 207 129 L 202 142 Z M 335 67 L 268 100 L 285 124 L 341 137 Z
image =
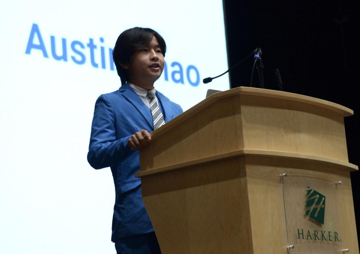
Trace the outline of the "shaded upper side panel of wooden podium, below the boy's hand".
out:
M 224 107 L 224 103 L 217 100 L 188 121 L 179 123 L 176 130 L 164 130 L 161 139 L 152 139 L 148 148 L 140 151 L 140 168 L 163 167 L 242 149 L 240 100 L 231 96 L 226 98 L 229 106 Z

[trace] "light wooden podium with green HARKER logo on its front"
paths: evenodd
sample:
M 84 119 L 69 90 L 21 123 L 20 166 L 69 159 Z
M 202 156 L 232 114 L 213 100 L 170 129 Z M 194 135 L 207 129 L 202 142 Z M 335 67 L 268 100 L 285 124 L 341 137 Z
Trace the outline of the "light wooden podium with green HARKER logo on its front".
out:
M 143 201 L 163 254 L 359 254 L 343 117 L 328 101 L 238 87 L 152 132 Z

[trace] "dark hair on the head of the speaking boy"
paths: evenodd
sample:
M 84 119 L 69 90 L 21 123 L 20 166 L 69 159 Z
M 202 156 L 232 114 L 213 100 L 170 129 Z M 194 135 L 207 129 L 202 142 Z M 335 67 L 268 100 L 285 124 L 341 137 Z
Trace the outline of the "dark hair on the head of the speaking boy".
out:
M 113 60 L 116 65 L 117 74 L 120 76 L 121 83 L 124 84 L 128 80 L 127 70 L 122 68 L 120 63 L 128 64 L 130 56 L 137 50 L 148 46 L 153 38 L 157 39 L 162 54 L 165 56 L 166 44 L 158 32 L 151 28 L 134 27 L 123 31 L 116 40 L 113 49 Z

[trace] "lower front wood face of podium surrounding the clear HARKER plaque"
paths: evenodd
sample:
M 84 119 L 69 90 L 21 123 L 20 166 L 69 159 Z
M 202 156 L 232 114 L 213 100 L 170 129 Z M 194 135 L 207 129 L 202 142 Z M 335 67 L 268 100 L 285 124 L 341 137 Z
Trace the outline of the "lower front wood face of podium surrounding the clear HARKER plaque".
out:
M 245 157 L 245 159 L 252 232 L 257 232 L 256 235 L 253 235 L 254 253 L 282 253 L 282 249 L 287 245 L 287 241 L 279 242 L 283 239 L 283 233 L 285 233 L 283 196 L 282 194 L 279 195 L 282 192 L 279 177 L 282 173 L 286 173 L 288 176 L 321 178 L 330 182 L 343 181 L 343 185 L 341 185 L 341 198 L 335 200 L 338 202 L 336 205 L 339 209 L 332 210 L 330 207 L 326 209 L 326 213 L 337 213 L 333 217 L 338 218 L 339 223 L 334 228 L 342 232 L 342 241 L 340 243 L 290 242 L 289 244 L 295 245 L 295 249 L 292 252 L 297 253 L 296 248 L 299 249 L 299 247 L 296 246 L 302 244 L 302 247 L 305 246 L 305 250 L 307 250 L 300 251 L 302 253 L 341 254 L 339 250 L 346 248 L 350 248 L 351 253 L 359 253 L 354 206 L 351 201 L 350 173 L 348 171 L 339 170 L 335 164 L 314 163 L 314 161 L 310 160 L 275 157 Z M 307 184 L 311 185 L 311 181 L 311 178 L 309 178 Z M 306 187 L 305 185 L 304 189 Z M 254 223 L 253 219 L 256 221 L 260 220 L 260 223 Z M 287 223 L 294 222 L 287 221 Z M 302 216 L 297 218 L 296 223 L 302 225 L 304 229 L 307 229 L 309 225 L 309 222 Z M 333 226 L 325 221 L 324 229 Z M 291 225 L 288 225 L 288 227 L 291 227 Z M 310 226 L 310 229 L 312 227 Z M 269 237 L 271 232 L 273 232 L 273 237 Z M 322 251 L 314 252 L 311 247 L 318 244 L 323 247 L 321 248 Z M 271 250 L 268 249 L 269 246 L 271 246 Z

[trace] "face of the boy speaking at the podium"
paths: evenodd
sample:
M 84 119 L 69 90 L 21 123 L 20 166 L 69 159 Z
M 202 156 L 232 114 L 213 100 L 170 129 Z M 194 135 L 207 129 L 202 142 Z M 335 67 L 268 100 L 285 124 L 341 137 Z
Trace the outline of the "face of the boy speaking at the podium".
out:
M 129 82 L 146 90 L 153 89 L 154 82 L 164 69 L 164 56 L 155 36 L 150 44 L 130 56 L 129 64 L 122 64 L 129 74 Z

